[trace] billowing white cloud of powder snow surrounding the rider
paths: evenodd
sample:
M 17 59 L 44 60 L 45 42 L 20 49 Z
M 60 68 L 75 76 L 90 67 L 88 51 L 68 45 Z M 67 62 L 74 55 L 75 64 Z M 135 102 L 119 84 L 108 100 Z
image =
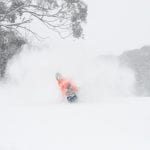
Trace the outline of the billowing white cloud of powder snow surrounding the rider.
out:
M 134 73 L 116 59 L 99 57 L 99 52 L 25 46 L 9 61 L 0 99 L 8 104 L 49 104 L 66 100 L 58 88 L 55 73 L 79 87 L 79 102 L 105 102 L 106 97 L 134 96 Z M 105 98 L 105 99 L 104 99 Z

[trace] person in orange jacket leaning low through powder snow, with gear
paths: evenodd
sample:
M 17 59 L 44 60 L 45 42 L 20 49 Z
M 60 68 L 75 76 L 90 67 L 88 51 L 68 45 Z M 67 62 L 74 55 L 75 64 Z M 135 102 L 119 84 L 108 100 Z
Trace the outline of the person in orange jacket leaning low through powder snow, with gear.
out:
M 71 81 L 64 79 L 60 73 L 56 73 L 55 76 L 62 95 L 67 98 L 68 102 L 76 101 L 76 93 L 78 92 L 77 86 L 74 85 Z

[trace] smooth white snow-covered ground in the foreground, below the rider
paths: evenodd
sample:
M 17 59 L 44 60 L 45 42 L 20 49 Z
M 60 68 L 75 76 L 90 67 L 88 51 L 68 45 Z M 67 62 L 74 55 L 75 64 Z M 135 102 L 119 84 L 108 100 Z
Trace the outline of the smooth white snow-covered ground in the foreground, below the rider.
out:
M 149 108 L 143 102 L 1 108 L 0 149 L 149 150 Z

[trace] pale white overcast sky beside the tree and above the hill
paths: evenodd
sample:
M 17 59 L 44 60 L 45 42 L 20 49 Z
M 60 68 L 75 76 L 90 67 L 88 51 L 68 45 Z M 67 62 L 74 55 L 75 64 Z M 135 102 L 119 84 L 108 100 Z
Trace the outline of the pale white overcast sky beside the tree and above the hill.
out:
M 36 28 L 42 35 L 50 36 L 48 41 L 53 48 L 86 49 L 112 54 L 150 44 L 149 0 L 85 0 L 85 2 L 89 10 L 84 40 L 61 40 L 44 27 L 34 25 L 34 29 Z

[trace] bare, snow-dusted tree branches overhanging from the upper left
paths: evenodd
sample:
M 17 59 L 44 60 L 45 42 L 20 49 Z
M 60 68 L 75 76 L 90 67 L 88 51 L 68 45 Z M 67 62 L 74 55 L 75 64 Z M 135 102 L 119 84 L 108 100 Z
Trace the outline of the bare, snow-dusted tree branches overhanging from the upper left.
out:
M 87 5 L 81 0 L 0 0 L 0 28 L 19 32 L 26 30 L 37 36 L 26 24 L 34 19 L 56 31 L 62 38 L 83 35 Z

